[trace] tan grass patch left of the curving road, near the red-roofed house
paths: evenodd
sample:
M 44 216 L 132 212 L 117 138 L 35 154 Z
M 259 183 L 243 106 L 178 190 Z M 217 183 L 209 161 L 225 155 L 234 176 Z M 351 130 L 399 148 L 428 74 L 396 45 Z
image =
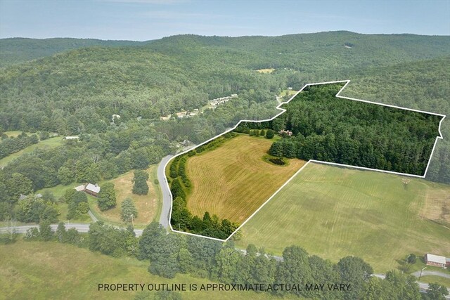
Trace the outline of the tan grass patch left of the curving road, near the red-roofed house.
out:
M 122 223 L 120 219 L 120 205 L 126 197 L 131 197 L 138 210 L 138 217 L 134 219 L 135 226 L 145 226 L 154 219 L 159 218 L 161 191 L 160 185 L 155 185 L 154 183 L 155 178 L 157 178 L 157 169 L 158 165 L 153 164 L 146 170 L 149 175 L 147 181 L 148 195 L 134 195 L 132 193 L 134 171 L 129 171 L 110 181 L 115 185 L 116 207 L 107 211 L 100 211 L 96 204 L 96 198 L 91 197 L 89 199 L 91 211 L 98 216 L 98 219 L 103 219 L 109 223 Z

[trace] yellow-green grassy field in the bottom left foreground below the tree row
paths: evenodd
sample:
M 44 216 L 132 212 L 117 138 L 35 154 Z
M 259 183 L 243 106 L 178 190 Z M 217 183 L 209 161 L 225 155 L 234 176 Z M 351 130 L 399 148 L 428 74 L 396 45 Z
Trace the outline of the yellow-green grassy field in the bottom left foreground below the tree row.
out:
M 148 261 L 115 259 L 57 242 L 0 246 L 0 299 L 133 299 L 136 292 L 98 292 L 99 283 L 210 283 L 176 275 L 148 273 Z M 149 293 L 149 292 L 148 292 Z M 151 294 L 150 294 L 151 296 Z M 270 299 L 254 292 L 183 292 L 183 299 Z

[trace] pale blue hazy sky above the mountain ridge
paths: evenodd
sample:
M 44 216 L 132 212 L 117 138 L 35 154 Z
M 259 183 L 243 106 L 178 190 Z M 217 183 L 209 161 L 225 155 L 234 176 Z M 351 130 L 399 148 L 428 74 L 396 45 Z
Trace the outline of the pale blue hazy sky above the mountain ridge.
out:
M 450 0 L 0 0 L 0 38 L 147 41 L 334 30 L 450 35 Z

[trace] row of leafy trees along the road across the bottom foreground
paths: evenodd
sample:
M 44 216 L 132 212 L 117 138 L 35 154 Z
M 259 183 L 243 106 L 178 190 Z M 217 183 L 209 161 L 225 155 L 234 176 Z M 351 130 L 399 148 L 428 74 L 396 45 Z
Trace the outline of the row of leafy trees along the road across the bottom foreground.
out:
M 3 236 L 2 236 L 3 238 Z M 3 239 L 2 239 L 3 240 Z M 246 251 L 235 249 L 233 242 L 218 242 L 191 235 L 167 234 L 153 222 L 141 237 L 133 229 L 115 228 L 101 221 L 92 223 L 87 234 L 59 223 L 53 233 L 48 221 L 30 228 L 25 240 L 56 241 L 85 247 L 114 257 L 131 256 L 149 261 L 148 272 L 165 278 L 178 273 L 208 278 L 226 284 L 265 286 L 295 283 L 302 289 L 272 290 L 274 296 L 298 296 L 308 299 L 444 299 L 445 287 L 432 283 L 426 294 L 419 292 L 416 278 L 390 270 L 385 279 L 373 276 L 373 268 L 357 256 L 345 256 L 337 263 L 310 255 L 302 247 L 290 246 L 281 258 L 266 254 L 249 244 Z M 346 290 L 314 289 L 315 284 L 345 284 Z M 306 288 L 307 286 L 313 288 Z

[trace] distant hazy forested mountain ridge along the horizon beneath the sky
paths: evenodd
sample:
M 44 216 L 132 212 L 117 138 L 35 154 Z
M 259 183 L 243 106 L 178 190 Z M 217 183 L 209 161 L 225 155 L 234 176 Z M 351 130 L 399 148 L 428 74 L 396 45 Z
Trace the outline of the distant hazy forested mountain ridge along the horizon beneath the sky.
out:
M 262 60 L 258 59 L 251 63 L 255 68 L 265 67 L 269 58 L 274 60 L 270 62 L 274 67 L 297 69 L 300 60 L 311 59 L 311 57 L 305 57 L 311 52 L 314 52 L 315 55 L 319 53 L 328 56 L 333 54 L 326 61 L 342 59 L 348 56 L 348 51 L 345 54 L 346 49 L 348 49 L 345 46 L 347 46 L 353 48 L 352 51 L 366 52 L 368 56 L 372 56 L 372 61 L 369 64 L 375 63 L 375 61 L 383 63 L 387 58 L 400 63 L 401 61 L 429 59 L 448 54 L 450 41 L 448 37 L 442 36 L 357 34 L 345 31 L 288 34 L 281 37 L 204 37 L 194 34 L 181 34 L 154 41 L 10 38 L 0 39 L 0 67 L 89 46 L 146 46 L 155 51 L 169 54 L 182 53 L 187 48 L 221 48 L 238 51 L 241 54 L 251 52 L 256 56 L 264 55 Z M 322 56 L 321 58 L 326 57 Z M 260 66 L 261 64 L 262 66 Z M 251 65 L 247 66 L 250 67 Z M 352 65 L 340 65 L 340 67 L 350 66 Z M 300 68 L 300 70 L 302 69 Z

